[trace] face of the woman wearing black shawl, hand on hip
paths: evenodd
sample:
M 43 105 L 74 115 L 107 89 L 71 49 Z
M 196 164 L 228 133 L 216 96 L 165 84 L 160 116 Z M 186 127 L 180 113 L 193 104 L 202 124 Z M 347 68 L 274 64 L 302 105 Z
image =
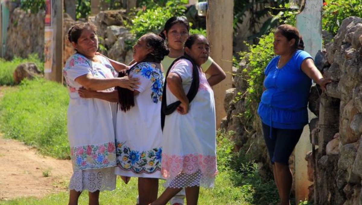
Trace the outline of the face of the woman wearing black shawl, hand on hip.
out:
M 195 60 L 197 65 L 204 64 L 207 59 L 209 58 L 210 54 L 210 46 L 209 42 L 205 37 L 198 37 L 194 44 L 192 44 L 191 49 L 185 47 L 185 52 L 188 54 L 192 59 Z

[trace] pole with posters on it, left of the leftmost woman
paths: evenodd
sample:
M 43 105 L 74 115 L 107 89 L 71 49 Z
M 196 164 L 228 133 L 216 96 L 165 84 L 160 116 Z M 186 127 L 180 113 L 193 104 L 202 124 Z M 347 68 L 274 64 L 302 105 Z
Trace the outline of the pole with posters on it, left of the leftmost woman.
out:
M 63 1 L 46 0 L 45 17 L 45 63 L 47 80 L 63 80 Z

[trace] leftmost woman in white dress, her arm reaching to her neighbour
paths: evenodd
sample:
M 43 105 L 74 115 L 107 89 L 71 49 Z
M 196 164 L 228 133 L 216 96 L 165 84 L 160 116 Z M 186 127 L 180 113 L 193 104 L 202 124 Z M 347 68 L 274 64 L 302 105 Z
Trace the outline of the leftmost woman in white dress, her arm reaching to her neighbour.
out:
M 118 73 L 110 61 L 95 55 L 98 40 L 93 24 L 72 26 L 68 40 L 76 50 L 63 70 L 70 97 L 67 127 L 74 172 L 69 185 L 69 205 L 77 205 L 84 190 L 88 190 L 89 205 L 99 205 L 100 191 L 115 188 L 114 103 L 80 98 L 77 90 L 80 87 L 113 90 L 115 86 L 133 90 L 138 82 L 137 78 L 114 78 Z

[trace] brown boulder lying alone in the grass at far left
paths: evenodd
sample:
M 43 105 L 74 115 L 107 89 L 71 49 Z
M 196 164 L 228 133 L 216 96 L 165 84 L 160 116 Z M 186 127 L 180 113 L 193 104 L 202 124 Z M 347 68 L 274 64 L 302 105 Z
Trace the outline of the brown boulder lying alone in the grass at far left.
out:
M 18 65 L 13 74 L 14 81 L 19 84 L 25 78 L 32 80 L 35 77 L 43 77 L 35 63 L 22 63 Z

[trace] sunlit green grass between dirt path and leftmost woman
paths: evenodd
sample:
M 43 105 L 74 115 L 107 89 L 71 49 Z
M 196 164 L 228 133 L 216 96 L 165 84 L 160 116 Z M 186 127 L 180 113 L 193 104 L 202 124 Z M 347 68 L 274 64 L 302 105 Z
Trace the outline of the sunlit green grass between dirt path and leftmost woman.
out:
M 0 101 L 0 131 L 34 146 L 40 153 L 70 158 L 67 139 L 68 93 L 56 82 L 24 80 Z

